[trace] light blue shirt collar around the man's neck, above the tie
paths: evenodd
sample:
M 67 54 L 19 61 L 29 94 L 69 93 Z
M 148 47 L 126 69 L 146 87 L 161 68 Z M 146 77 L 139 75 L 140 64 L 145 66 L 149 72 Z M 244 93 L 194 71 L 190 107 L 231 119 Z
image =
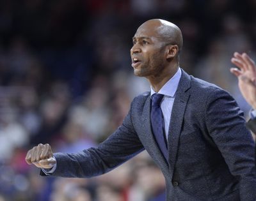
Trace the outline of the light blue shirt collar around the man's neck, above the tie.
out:
M 173 77 L 171 77 L 170 80 L 168 80 L 168 82 L 164 84 L 164 86 L 159 90 L 158 93 L 164 94 L 164 96 L 174 97 L 179 85 L 180 77 L 181 77 L 181 70 L 179 68 L 177 72 L 173 75 Z M 153 94 L 156 94 L 152 86 L 150 88 L 151 88 L 150 96 L 152 96 Z

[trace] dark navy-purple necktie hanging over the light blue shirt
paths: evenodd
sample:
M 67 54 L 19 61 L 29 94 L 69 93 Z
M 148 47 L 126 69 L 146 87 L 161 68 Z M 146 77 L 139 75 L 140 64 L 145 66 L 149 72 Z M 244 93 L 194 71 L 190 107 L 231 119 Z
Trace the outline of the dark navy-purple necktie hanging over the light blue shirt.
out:
M 163 99 L 163 94 L 153 94 L 152 95 L 152 105 L 151 105 L 151 124 L 154 136 L 156 138 L 157 144 L 161 149 L 164 158 L 168 161 L 168 151 L 166 145 L 166 138 L 164 136 L 164 119 L 163 113 L 160 107 L 161 100 Z

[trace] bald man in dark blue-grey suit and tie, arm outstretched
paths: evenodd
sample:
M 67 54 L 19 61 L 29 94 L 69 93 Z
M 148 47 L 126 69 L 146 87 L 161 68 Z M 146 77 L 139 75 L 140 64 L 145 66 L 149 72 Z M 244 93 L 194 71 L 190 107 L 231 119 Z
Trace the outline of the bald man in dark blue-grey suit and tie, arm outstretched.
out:
M 143 23 L 133 37 L 132 67 L 151 92 L 134 98 L 122 126 L 98 148 L 53 155 L 40 144 L 26 161 L 50 168 L 42 175 L 92 177 L 146 149 L 163 172 L 168 201 L 255 200 L 254 142 L 243 113 L 227 92 L 179 67 L 181 48 L 175 24 Z

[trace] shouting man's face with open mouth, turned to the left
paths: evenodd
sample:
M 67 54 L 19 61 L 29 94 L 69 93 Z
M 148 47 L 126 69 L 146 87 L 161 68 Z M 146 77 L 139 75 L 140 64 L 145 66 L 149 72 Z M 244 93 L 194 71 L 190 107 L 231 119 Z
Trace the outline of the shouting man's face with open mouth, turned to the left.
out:
M 156 26 L 143 24 L 132 38 L 132 67 L 134 75 L 156 77 L 164 68 L 164 43 L 157 33 Z

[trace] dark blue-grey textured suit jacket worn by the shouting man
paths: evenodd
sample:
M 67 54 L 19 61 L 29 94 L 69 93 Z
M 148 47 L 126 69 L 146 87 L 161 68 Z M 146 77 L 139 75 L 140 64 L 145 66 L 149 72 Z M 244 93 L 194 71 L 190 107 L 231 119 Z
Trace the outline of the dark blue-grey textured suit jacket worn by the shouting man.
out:
M 168 201 L 255 200 L 255 144 L 243 112 L 227 92 L 182 71 L 170 120 L 168 162 L 152 133 L 150 101 L 150 93 L 134 98 L 122 126 L 99 147 L 54 154 L 58 165 L 52 175 L 104 174 L 146 149 L 163 172 Z

